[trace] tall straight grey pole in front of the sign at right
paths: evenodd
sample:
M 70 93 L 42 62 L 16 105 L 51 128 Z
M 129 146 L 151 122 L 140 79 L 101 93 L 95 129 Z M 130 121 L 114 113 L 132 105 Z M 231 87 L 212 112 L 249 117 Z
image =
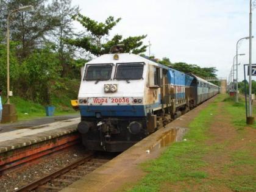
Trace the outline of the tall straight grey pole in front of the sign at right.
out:
M 249 116 L 246 123 L 254 124 L 254 117 L 252 116 L 252 0 L 250 0 L 249 13 Z

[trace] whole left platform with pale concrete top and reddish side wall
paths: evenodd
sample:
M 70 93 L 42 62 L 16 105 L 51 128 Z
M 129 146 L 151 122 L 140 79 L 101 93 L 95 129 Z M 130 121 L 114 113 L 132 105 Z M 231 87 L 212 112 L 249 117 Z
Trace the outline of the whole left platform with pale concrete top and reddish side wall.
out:
M 68 119 L 27 129 L 0 133 L 0 174 L 30 160 L 80 143 L 77 124 Z

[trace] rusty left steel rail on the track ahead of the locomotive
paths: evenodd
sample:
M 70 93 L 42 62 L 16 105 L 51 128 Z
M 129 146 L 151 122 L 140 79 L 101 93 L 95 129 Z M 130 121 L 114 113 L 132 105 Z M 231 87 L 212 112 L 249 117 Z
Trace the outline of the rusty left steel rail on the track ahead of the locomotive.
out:
M 61 176 L 62 174 L 65 174 L 66 172 L 70 171 L 71 169 L 76 168 L 77 166 L 81 165 L 82 163 L 88 162 L 94 157 L 94 153 L 91 152 L 88 154 L 87 157 L 80 158 L 76 162 L 73 162 L 64 168 L 61 168 L 57 171 L 51 172 L 47 176 L 41 177 L 38 180 L 35 180 L 34 182 L 29 183 L 28 185 L 25 185 L 24 187 L 19 188 L 18 190 L 15 190 L 15 192 L 21 192 L 21 191 L 31 191 L 34 190 L 37 187 L 40 187 L 40 185 L 44 185 L 45 183 L 51 181 L 52 179 L 55 179 L 56 177 Z

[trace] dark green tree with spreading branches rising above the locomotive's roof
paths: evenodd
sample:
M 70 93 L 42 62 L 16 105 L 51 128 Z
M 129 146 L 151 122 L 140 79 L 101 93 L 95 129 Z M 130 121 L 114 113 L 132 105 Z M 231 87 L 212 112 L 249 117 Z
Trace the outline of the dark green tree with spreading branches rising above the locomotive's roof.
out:
M 73 16 L 73 19 L 79 21 L 79 23 L 85 27 L 88 34 L 82 38 L 66 39 L 65 42 L 67 44 L 83 48 L 97 56 L 107 54 L 110 48 L 115 44 L 124 44 L 124 52 L 139 54 L 146 51 L 147 46 L 143 46 L 142 41 L 146 38 L 146 35 L 128 37 L 125 39 L 123 39 L 122 35 L 115 35 L 111 40 L 107 40 L 110 30 L 119 23 L 121 18 L 115 20 L 113 16 L 108 16 L 105 23 L 98 23 L 87 16 L 77 14 Z M 106 43 L 104 43 L 104 41 L 106 41 Z

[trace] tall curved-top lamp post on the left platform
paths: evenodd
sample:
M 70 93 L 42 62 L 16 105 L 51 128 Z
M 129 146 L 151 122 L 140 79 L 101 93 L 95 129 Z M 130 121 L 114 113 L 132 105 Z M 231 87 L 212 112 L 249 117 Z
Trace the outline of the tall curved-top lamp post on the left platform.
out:
M 32 5 L 27 5 L 24 7 L 19 7 L 18 9 L 12 10 L 7 16 L 7 33 L 6 33 L 6 41 L 7 41 L 7 104 L 10 104 L 10 15 L 14 12 L 26 12 L 28 10 L 32 10 Z

